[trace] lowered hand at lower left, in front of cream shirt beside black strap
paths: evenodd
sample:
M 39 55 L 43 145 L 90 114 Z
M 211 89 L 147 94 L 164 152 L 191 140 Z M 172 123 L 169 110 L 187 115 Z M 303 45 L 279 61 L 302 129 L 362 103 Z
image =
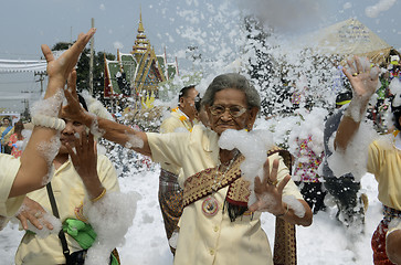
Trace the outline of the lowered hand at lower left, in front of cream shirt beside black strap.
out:
M 49 230 L 53 230 L 53 225 L 43 219 L 46 211 L 38 202 L 25 197 L 22 204 L 22 211 L 17 215 L 20 220 L 22 227 L 28 230 L 28 221 L 30 221 L 36 229 L 42 230 L 42 223 L 46 225 Z

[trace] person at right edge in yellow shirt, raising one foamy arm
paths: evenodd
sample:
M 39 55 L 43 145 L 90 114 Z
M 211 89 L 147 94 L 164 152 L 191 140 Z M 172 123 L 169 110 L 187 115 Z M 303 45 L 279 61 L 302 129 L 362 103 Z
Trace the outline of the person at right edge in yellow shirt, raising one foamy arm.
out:
M 353 97 L 345 110 L 341 123 L 335 138 L 335 150 L 341 153 L 345 159 L 355 153 L 355 149 L 365 147 L 367 153 L 360 153 L 363 158 L 366 170 L 374 174 L 378 182 L 378 199 L 383 205 L 383 219 L 372 235 L 371 247 L 373 251 L 373 264 L 401 264 L 401 138 L 397 131 L 389 139 L 374 139 L 373 141 L 352 145 L 357 135 L 368 135 L 367 125 L 361 123 L 371 96 L 378 87 L 379 68 L 369 67 L 361 60 L 356 57 L 348 61 L 348 70 L 345 71 L 350 81 Z M 398 81 L 395 81 L 398 82 Z M 398 84 L 401 86 L 401 84 Z M 394 93 L 395 94 L 395 93 Z M 394 96 L 391 106 L 394 126 L 401 129 L 401 94 Z M 363 124 L 363 125 L 362 125 Z M 359 130 L 363 131 L 359 131 Z M 360 137 L 359 137 L 360 138 Z M 344 163 L 346 165 L 346 162 Z M 390 227 L 390 230 L 389 230 Z

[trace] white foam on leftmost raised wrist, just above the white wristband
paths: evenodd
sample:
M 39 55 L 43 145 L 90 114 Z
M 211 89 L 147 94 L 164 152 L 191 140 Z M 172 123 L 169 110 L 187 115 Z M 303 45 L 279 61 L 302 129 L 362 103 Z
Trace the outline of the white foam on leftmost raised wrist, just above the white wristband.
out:
M 31 107 L 31 116 L 45 115 L 59 117 L 59 110 L 63 99 L 64 93 L 61 87 L 52 97 L 35 102 Z

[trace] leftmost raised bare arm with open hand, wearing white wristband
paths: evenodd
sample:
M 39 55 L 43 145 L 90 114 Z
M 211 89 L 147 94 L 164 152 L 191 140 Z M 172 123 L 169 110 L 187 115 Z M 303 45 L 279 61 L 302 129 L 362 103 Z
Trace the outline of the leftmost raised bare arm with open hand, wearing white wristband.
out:
M 57 93 L 61 93 L 81 52 L 95 34 L 95 29 L 91 29 L 86 34 L 81 33 L 74 45 L 65 51 L 57 60 L 54 60 L 48 45 L 42 45 L 43 55 L 48 61 L 46 72 L 49 75 L 44 99 L 49 99 L 56 96 Z M 54 109 L 59 112 L 60 107 L 61 104 L 54 106 Z M 50 144 L 56 132 L 55 129 L 48 127 L 35 126 L 33 128 L 32 136 L 21 156 L 21 166 L 15 176 L 9 198 L 25 194 L 45 184 L 44 177 L 48 176 L 50 163 L 54 157 L 49 157 L 49 153 L 43 153 L 45 150 L 41 150 L 39 147 L 43 146 L 43 144 Z

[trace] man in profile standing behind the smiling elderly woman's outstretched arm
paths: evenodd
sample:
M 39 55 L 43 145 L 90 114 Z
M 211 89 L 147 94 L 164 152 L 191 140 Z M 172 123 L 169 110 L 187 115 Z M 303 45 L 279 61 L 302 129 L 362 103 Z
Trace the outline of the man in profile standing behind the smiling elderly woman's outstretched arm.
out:
M 173 108 L 160 125 L 160 132 L 191 131 L 197 116 L 194 108 L 196 100 L 199 100 L 196 87 L 183 87 L 178 96 L 178 107 Z M 165 222 L 167 240 L 169 241 L 170 251 L 175 255 L 176 243 L 170 241 L 171 235 L 177 231 L 177 224 L 182 214 L 182 186 L 183 176 L 181 168 L 168 162 L 160 163 L 161 171 L 159 176 L 159 204 Z M 181 187 L 180 187 L 181 186 Z

